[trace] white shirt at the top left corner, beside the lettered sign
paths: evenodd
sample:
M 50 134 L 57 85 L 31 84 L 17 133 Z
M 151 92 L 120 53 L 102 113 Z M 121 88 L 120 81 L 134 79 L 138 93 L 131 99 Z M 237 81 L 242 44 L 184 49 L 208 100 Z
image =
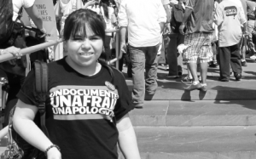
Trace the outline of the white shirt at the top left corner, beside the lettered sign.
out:
M 12 1 L 13 1 L 13 7 L 14 7 L 13 21 L 17 19 L 18 13 L 22 7 L 30 8 L 35 3 L 35 0 L 12 0 Z

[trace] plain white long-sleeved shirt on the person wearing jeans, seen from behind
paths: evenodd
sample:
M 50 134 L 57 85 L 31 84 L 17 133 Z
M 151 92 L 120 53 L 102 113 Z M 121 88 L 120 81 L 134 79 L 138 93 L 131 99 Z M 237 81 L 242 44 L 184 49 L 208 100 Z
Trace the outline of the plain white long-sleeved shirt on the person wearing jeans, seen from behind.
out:
M 119 26 L 128 27 L 128 43 L 149 47 L 160 43 L 160 22 L 166 22 L 166 10 L 160 0 L 122 0 Z

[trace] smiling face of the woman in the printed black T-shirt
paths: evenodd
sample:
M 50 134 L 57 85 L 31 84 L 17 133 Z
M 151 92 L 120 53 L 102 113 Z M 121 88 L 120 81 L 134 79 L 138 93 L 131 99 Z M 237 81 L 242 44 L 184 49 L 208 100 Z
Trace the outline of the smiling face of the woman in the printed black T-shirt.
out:
M 80 67 L 96 67 L 96 61 L 102 54 L 102 37 L 96 36 L 90 27 L 86 26 L 86 37 L 77 33 L 66 43 L 67 62 L 69 65 Z

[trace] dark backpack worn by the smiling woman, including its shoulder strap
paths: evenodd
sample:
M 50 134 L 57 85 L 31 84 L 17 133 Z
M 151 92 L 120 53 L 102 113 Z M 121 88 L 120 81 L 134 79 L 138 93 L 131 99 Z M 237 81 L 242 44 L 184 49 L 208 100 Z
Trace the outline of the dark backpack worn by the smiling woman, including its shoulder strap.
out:
M 48 92 L 48 67 L 46 63 L 36 61 L 34 63 L 36 91 L 38 95 L 38 113 L 35 116 L 34 122 L 41 128 L 44 134 L 49 137 L 47 128 L 45 127 L 45 99 Z M 13 128 L 12 117 L 15 112 L 15 107 L 10 111 L 9 116 L 9 141 L 7 150 L 3 151 L 1 159 L 45 159 L 44 152 L 36 149 L 28 144 L 25 139 L 22 139 Z

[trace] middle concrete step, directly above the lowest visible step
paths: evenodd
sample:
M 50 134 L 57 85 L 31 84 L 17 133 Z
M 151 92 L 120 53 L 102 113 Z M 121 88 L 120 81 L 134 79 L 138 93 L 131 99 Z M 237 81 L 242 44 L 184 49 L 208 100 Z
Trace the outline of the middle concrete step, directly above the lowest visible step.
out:
M 152 100 L 130 112 L 134 126 L 256 126 L 256 100 Z M 256 132 L 255 132 L 256 133 Z

